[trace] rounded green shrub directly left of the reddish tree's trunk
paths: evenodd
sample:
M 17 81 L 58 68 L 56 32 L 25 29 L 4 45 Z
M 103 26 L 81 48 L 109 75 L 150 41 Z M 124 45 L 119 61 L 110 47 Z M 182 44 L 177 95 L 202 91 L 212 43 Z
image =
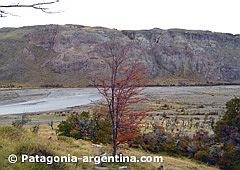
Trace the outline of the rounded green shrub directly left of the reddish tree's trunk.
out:
M 111 124 L 106 117 L 91 116 L 89 112 L 71 114 L 58 125 L 58 135 L 87 139 L 96 143 L 111 142 Z

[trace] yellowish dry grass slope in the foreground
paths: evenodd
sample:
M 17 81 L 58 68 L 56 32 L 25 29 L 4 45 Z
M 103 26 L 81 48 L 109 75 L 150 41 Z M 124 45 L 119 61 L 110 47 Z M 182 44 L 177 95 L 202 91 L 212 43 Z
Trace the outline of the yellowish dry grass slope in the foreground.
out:
M 41 124 L 37 134 L 31 132 L 32 125 L 27 125 L 23 129 L 17 129 L 12 126 L 0 126 L 0 165 L 1 170 L 28 170 L 28 169 L 94 169 L 93 163 L 79 163 L 79 164 L 33 164 L 33 163 L 8 163 L 8 156 L 10 154 L 20 155 L 26 154 L 48 154 L 48 155 L 76 155 L 76 156 L 94 156 L 99 153 L 99 149 L 95 147 L 91 142 L 84 140 L 75 140 L 67 137 L 57 137 L 56 128 L 57 124 L 54 124 L 52 130 L 48 124 Z M 101 151 L 109 153 L 111 147 L 108 145 L 102 145 Z M 120 152 L 123 155 L 134 156 L 146 156 L 152 155 L 145 153 L 142 150 L 121 147 Z M 158 155 L 159 156 L 159 155 Z M 197 163 L 193 160 L 186 158 L 174 158 L 163 156 L 164 169 L 165 170 L 181 170 L 181 169 L 194 169 L 194 170 L 214 170 L 215 167 L 209 167 L 204 164 Z M 106 166 L 111 169 L 118 169 L 119 166 L 127 166 L 128 169 L 157 169 L 157 163 L 129 163 L 123 164 L 107 164 Z

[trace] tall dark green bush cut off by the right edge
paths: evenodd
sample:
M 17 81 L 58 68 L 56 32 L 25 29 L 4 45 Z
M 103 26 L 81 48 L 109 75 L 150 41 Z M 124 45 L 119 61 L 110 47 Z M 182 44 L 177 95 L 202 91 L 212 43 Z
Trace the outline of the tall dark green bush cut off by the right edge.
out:
M 214 132 L 219 142 L 223 143 L 223 155 L 218 164 L 223 169 L 237 169 L 240 160 L 240 98 L 227 102 L 227 111 L 222 120 L 216 123 Z

